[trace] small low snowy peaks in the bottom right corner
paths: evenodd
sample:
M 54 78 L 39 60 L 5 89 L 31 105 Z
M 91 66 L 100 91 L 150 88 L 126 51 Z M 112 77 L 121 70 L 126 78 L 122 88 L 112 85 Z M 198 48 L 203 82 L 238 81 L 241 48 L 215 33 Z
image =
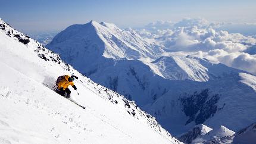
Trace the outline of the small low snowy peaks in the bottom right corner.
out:
M 236 133 L 224 126 L 211 129 L 203 124 L 199 124 L 187 133 L 179 136 L 178 139 L 184 143 L 252 144 L 256 142 L 256 124 L 253 123 Z

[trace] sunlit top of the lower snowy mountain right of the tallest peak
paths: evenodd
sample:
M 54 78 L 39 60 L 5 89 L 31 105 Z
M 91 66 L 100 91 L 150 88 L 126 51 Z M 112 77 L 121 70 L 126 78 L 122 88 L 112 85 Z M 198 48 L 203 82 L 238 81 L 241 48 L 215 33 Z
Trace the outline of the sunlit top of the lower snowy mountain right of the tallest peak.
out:
M 206 82 L 220 79 L 224 74 L 238 73 L 239 70 L 223 64 L 188 55 L 186 57 L 161 57 L 149 63 L 155 73 L 170 80 L 193 80 Z

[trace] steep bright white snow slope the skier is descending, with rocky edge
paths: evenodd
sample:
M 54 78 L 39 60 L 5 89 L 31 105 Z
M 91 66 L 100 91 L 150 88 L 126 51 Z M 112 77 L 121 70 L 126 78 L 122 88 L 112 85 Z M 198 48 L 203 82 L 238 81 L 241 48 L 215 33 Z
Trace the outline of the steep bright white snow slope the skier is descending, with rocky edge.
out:
M 0 143 L 180 143 L 135 102 L 1 19 L 0 27 Z M 63 74 L 79 77 L 70 101 L 51 88 Z

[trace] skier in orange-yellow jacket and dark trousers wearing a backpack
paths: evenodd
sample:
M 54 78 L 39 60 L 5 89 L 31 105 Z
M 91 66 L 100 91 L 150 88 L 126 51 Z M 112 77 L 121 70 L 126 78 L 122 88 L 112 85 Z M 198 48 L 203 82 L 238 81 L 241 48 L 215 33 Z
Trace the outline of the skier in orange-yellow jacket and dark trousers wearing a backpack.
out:
M 73 83 L 74 78 L 78 79 L 76 76 L 60 76 L 58 77 L 58 80 L 56 82 L 57 87 L 57 93 L 64 96 L 65 98 L 70 98 L 70 89 L 68 89 L 68 86 L 71 85 L 74 90 L 76 90 L 76 86 Z M 65 96 L 67 93 L 67 96 Z

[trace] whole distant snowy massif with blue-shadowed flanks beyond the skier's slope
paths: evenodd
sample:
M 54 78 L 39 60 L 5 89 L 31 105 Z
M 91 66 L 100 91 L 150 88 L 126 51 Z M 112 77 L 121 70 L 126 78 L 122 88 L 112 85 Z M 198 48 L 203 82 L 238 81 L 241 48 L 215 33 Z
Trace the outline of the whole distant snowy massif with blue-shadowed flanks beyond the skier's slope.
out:
M 201 123 L 237 131 L 256 120 L 254 75 L 203 58 L 161 57 L 162 49 L 139 45 L 146 41 L 132 32 L 90 21 L 68 27 L 47 47 L 93 81 L 135 101 L 174 135 Z M 122 49 L 135 49 L 139 57 Z

